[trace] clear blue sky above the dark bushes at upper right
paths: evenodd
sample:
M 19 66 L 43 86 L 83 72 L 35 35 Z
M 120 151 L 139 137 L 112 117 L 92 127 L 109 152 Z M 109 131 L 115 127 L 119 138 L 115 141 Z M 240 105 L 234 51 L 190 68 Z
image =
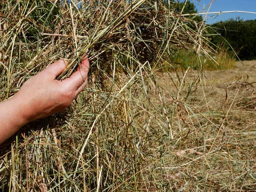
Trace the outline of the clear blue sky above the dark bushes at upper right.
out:
M 192 0 L 195 3 L 196 9 L 200 12 L 203 8 L 211 3 L 212 0 Z M 197 4 L 198 3 L 198 4 Z M 221 11 L 246 11 L 256 12 L 256 0 L 215 0 L 209 9 L 209 12 L 221 12 Z M 210 16 L 210 15 L 209 15 Z M 222 13 L 221 15 L 211 15 L 207 17 L 207 23 L 215 23 L 221 20 L 228 20 L 240 16 L 244 20 L 255 20 L 256 14 L 249 13 Z M 216 17 L 217 16 L 217 17 Z

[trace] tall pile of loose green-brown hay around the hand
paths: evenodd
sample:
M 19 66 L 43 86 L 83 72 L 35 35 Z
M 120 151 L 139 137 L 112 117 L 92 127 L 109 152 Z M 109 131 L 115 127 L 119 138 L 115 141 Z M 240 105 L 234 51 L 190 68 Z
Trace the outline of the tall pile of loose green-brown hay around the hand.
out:
M 69 60 L 59 79 L 90 58 L 88 87 L 69 109 L 29 123 L 1 145 L 0 189 L 157 191 L 184 184 L 173 186 L 167 169 L 157 167 L 183 132 L 191 87 L 173 73 L 176 91 L 166 92 L 155 76 L 175 71 L 177 49 L 209 53 L 203 23 L 180 17 L 165 0 L 7 0 L 0 9 L 0 102 L 59 58 Z

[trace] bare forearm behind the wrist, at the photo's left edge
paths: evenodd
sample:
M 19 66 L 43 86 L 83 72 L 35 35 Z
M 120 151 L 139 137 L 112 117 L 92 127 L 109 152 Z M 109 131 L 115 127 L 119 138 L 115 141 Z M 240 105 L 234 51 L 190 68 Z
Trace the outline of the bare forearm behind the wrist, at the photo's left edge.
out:
M 11 137 L 27 120 L 23 116 L 23 109 L 20 102 L 11 98 L 0 103 L 0 144 Z

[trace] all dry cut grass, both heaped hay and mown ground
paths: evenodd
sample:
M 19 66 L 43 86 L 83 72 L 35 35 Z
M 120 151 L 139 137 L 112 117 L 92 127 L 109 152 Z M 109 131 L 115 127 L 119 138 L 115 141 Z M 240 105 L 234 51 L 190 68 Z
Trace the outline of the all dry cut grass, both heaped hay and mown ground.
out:
M 210 52 L 198 43 L 204 26 L 187 28 L 160 1 L 31 2 L 0 4 L 0 100 L 61 57 L 70 60 L 64 78 L 89 55 L 89 86 L 65 113 L 1 145 L 0 191 L 256 189 L 252 64 L 238 82 L 245 68 L 167 70 L 172 47 Z

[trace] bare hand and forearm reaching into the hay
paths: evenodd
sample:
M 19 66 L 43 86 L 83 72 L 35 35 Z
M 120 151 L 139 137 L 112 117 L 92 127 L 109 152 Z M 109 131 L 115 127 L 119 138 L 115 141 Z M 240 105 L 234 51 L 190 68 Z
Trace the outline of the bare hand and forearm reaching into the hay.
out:
M 87 86 L 88 59 L 69 78 L 58 81 L 56 77 L 66 66 L 64 59 L 49 65 L 28 79 L 12 98 L 0 103 L 0 144 L 28 122 L 64 111 Z

